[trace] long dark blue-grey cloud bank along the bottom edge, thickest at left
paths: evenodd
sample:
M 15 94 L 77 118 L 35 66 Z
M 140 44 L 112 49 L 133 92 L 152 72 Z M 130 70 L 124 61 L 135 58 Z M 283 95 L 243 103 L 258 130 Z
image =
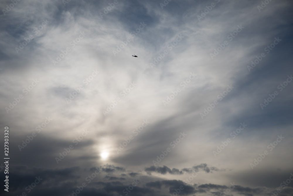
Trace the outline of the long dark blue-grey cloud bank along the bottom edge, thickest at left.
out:
M 211 183 L 201 185 L 189 185 L 181 180 L 157 180 L 144 182 L 137 179 L 127 180 L 108 175 L 105 176 L 105 179 L 110 180 L 110 182 L 98 181 L 98 179 L 96 179 L 91 183 L 87 183 L 86 181 L 82 180 L 83 177 L 81 177 L 80 172 L 81 170 L 79 167 L 52 170 L 37 167 L 28 168 L 26 166 L 18 165 L 11 169 L 11 179 L 18 180 L 12 182 L 12 191 L 9 192 L 9 194 L 21 194 L 22 192 L 26 192 L 27 190 L 25 190 L 25 187 L 30 185 L 30 182 L 34 182 L 36 179 L 35 177 L 38 176 L 40 176 L 41 178 L 41 183 L 38 184 L 35 189 L 31 190 L 31 195 L 33 196 L 40 194 L 40 192 L 43 192 L 43 195 L 45 196 L 53 193 L 59 194 L 60 192 L 63 194 L 71 194 L 70 192 L 76 191 L 76 187 L 80 187 L 82 182 L 85 182 L 86 187 L 84 187 L 81 191 L 81 195 L 100 194 L 113 196 L 115 194 L 123 195 L 126 191 L 130 195 L 139 194 L 143 196 L 159 196 L 159 192 L 153 190 L 154 188 L 157 190 L 163 190 L 163 188 L 168 188 L 169 194 L 173 194 L 173 192 L 175 192 L 176 190 L 178 192 L 178 189 L 181 188 L 181 195 L 201 195 L 207 193 L 221 195 L 227 189 L 230 189 L 229 192 L 231 192 L 231 194 L 238 193 L 240 195 L 266 195 L 270 194 L 270 192 L 272 191 L 277 190 L 269 189 L 267 187 L 243 187 L 240 185 L 236 185 L 235 183 L 231 185 L 218 185 Z M 121 180 L 123 180 L 124 182 L 121 182 Z M 132 190 L 129 191 L 130 189 Z M 282 189 L 281 195 L 288 196 L 292 193 L 293 188 L 286 187 L 285 189 Z

